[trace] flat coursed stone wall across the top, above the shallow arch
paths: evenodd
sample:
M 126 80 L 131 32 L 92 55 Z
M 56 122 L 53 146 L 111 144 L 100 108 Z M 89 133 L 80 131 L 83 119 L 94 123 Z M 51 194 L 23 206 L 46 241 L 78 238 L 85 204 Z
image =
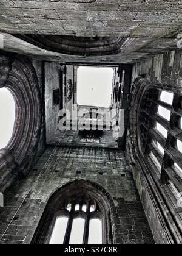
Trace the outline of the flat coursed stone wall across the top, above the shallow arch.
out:
M 178 0 L 2 0 L 0 7 L 8 33 L 170 38 L 181 29 Z

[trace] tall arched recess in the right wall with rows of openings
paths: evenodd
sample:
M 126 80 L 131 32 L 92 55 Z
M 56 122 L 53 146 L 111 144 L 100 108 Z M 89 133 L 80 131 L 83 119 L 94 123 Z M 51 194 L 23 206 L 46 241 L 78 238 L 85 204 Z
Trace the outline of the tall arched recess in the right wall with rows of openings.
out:
M 161 91 L 174 93 L 172 104 L 161 100 Z M 130 96 L 127 155 L 156 243 L 182 243 L 181 177 L 173 165 L 176 162 L 181 166 L 181 156 L 169 145 L 171 137 L 181 140 L 181 131 L 173 127 L 173 116 L 181 115 L 181 110 L 175 109 L 176 104 L 181 108 L 181 94 L 180 87 L 154 84 L 139 77 L 133 84 Z M 166 116 L 160 116 L 159 105 L 170 110 L 169 121 Z M 167 135 L 157 131 L 156 123 L 165 127 Z M 160 152 L 161 147 L 157 149 L 153 140 L 160 142 L 163 154 Z M 154 158 L 150 155 L 153 150 L 156 155 Z

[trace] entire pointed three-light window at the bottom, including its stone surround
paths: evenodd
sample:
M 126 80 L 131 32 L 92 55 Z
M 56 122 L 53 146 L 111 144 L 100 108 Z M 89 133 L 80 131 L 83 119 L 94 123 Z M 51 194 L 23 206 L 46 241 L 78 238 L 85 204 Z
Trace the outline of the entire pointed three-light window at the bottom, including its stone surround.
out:
M 108 197 L 86 180 L 64 185 L 49 199 L 32 243 L 112 243 Z

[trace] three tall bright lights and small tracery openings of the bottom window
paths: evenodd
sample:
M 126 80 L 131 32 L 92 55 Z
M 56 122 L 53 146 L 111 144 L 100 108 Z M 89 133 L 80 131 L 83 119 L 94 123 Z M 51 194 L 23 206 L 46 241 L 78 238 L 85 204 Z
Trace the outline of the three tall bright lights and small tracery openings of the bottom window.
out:
M 53 219 L 50 244 L 102 243 L 103 215 L 96 201 L 84 194 L 70 197 Z

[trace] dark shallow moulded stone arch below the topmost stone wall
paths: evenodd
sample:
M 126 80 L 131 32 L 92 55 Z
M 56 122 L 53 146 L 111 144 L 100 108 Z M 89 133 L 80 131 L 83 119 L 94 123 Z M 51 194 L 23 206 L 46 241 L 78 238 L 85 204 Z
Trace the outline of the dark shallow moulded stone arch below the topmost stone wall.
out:
M 44 50 L 72 56 L 118 54 L 127 40 L 125 37 L 75 37 L 69 35 L 16 34 L 16 37 Z

